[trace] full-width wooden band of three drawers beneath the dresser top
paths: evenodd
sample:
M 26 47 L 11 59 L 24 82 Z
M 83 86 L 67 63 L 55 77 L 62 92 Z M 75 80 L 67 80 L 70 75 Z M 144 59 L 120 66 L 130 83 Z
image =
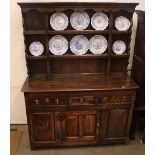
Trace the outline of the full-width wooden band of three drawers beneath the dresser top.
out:
M 31 105 L 94 105 L 104 103 L 132 102 L 133 92 L 95 92 L 83 93 L 29 93 Z M 94 94 L 94 95 L 93 95 Z

